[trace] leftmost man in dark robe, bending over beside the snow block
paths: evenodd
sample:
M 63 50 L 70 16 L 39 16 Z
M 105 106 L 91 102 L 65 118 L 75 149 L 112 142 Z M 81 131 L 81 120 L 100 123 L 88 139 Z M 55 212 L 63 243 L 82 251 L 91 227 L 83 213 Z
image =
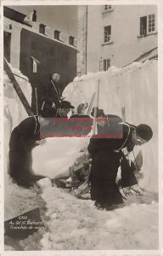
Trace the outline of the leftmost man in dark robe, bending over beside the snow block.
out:
M 10 176 L 18 185 L 31 187 L 42 176 L 32 174 L 31 150 L 46 143 L 40 138 L 40 130 L 48 125 L 41 116 L 31 116 L 23 120 L 11 133 L 9 141 Z

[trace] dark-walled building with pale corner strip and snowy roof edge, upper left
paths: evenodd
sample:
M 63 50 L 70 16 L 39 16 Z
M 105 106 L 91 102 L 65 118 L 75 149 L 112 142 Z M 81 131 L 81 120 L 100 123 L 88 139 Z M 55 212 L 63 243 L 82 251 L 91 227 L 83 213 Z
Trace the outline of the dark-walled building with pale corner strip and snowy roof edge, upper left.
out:
M 70 42 L 70 35 L 60 32 L 54 39 L 54 28 L 45 26 L 39 31 L 40 22 L 24 20 L 25 15 L 13 9 L 4 9 L 4 56 L 13 67 L 20 69 L 30 80 L 32 86 L 32 110 L 36 111 L 37 87 L 38 103 L 41 102 L 50 75 L 60 73 L 60 85 L 65 86 L 76 77 L 76 40 Z M 33 72 L 33 60 L 37 61 L 37 72 Z

